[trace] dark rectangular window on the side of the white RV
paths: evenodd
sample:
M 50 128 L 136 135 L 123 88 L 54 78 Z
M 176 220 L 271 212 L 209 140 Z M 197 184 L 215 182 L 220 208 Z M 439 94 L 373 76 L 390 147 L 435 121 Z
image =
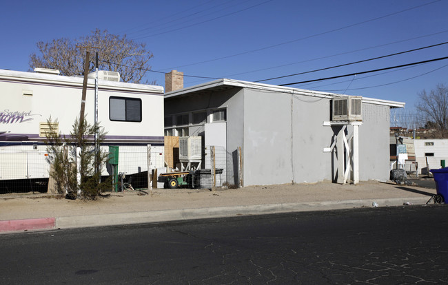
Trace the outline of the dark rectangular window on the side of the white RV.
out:
M 109 118 L 110 120 L 141 122 L 141 99 L 110 97 Z

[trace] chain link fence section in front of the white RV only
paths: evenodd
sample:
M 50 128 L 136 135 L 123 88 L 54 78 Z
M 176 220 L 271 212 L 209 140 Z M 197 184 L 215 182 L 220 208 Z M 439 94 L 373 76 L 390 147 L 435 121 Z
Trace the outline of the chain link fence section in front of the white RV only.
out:
M 102 151 L 109 151 L 107 146 Z M 120 173 L 117 182 L 123 182 L 114 189 L 147 189 L 148 166 L 152 169 L 164 167 L 163 146 L 150 147 L 148 155 L 147 145 L 119 146 L 118 165 L 103 165 L 101 176 L 112 176 L 114 167 L 116 174 Z M 14 145 L 0 148 L 0 193 L 39 192 L 54 193 L 52 180 L 49 176 L 50 164 L 45 145 Z M 72 158 L 75 161 L 74 158 Z

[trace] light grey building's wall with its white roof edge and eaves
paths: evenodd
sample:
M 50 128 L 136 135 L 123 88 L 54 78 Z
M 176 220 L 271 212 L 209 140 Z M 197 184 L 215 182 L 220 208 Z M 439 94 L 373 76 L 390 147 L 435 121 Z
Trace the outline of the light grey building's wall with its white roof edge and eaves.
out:
M 216 88 L 221 83 L 223 88 Z M 227 109 L 228 182 L 236 178 L 232 170 L 236 173 L 238 147 L 244 186 L 334 181 L 336 154 L 323 151 L 340 129 L 323 125 L 331 120 L 334 95 L 223 79 L 167 94 L 165 114 Z M 365 98 L 364 121 L 358 127 L 360 180 L 389 178 L 389 110 L 403 105 Z M 352 133 L 348 126 L 347 137 Z

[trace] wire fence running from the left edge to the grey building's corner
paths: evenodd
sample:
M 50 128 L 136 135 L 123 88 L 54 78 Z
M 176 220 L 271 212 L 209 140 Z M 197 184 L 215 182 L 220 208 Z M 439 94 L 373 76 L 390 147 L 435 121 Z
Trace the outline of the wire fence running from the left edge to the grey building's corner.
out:
M 111 191 L 135 191 L 141 189 L 170 188 L 167 179 L 159 179 L 163 173 L 181 169 L 179 149 L 171 145 L 170 160 L 176 165 L 169 167 L 163 146 L 121 145 L 118 147 L 118 163 L 101 168 L 103 179 L 114 177 Z M 109 151 L 108 146 L 101 147 Z M 173 151 L 174 149 L 174 151 Z M 148 151 L 149 150 L 149 151 Z M 73 158 L 73 163 L 75 159 Z M 187 162 L 182 162 L 187 165 Z M 149 169 L 149 173 L 148 173 Z M 214 189 L 235 188 L 242 184 L 241 149 L 238 154 L 226 151 L 225 147 L 204 146 L 201 162 L 191 163 L 183 169 L 183 175 L 172 176 L 176 188 Z M 39 192 L 55 193 L 50 164 L 45 145 L 17 145 L 0 148 L 0 193 Z M 149 183 L 148 183 L 149 182 Z

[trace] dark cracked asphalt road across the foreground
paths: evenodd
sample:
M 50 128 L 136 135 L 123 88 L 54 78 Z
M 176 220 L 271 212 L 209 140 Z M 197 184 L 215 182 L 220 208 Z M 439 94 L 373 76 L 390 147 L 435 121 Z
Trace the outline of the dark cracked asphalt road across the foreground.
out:
M 443 204 L 0 235 L 0 284 L 440 284 Z

